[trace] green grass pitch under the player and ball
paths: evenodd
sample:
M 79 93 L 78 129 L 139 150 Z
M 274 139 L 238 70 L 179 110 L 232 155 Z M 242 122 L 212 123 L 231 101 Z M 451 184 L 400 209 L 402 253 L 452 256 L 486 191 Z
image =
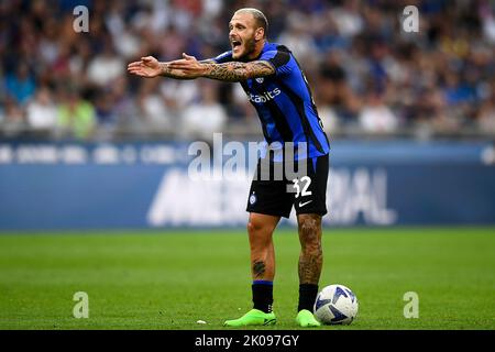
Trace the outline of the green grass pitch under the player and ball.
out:
M 295 230 L 274 237 L 275 327 L 297 329 Z M 322 286 L 360 301 L 348 327 L 495 329 L 495 228 L 324 229 Z M 89 318 L 76 319 L 76 292 Z M 404 294 L 419 296 L 406 319 Z M 243 231 L 0 234 L 0 329 L 226 329 L 251 308 Z M 198 324 L 205 320 L 206 324 Z

